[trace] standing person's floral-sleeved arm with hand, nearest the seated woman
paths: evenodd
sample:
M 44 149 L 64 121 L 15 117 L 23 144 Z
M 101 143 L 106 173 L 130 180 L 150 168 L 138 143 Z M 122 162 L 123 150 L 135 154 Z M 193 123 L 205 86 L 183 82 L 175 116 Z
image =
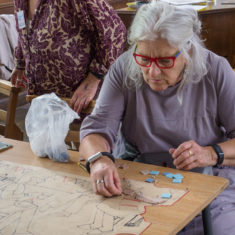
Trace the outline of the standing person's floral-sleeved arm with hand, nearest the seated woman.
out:
M 80 14 L 86 28 L 90 30 L 93 42 L 92 61 L 87 78 L 75 90 L 70 105 L 80 113 L 94 98 L 100 80 L 107 73 L 110 65 L 123 52 L 126 42 L 126 28 L 114 10 L 104 0 L 87 0 L 74 3 L 80 6 Z

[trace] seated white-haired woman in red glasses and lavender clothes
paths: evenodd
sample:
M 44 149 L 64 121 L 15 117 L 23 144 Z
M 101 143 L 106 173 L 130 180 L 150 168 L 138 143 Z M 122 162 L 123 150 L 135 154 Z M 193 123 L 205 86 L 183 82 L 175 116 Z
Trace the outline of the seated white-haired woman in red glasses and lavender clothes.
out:
M 111 66 L 83 122 L 80 152 L 94 192 L 108 197 L 122 193 L 112 151 L 124 159 L 228 177 L 231 185 L 211 212 L 215 234 L 235 234 L 235 73 L 204 48 L 200 30 L 192 9 L 154 0 L 139 9 L 131 47 Z M 194 225 L 202 234 L 197 219 Z

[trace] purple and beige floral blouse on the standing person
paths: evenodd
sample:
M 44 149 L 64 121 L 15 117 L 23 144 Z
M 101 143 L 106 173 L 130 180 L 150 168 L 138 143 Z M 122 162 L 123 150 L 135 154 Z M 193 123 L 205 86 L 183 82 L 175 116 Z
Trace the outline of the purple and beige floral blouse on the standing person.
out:
M 15 13 L 28 0 L 15 0 Z M 29 94 L 71 97 L 89 72 L 103 76 L 122 53 L 126 29 L 105 0 L 39 0 L 31 25 L 19 29 L 16 66 L 26 69 Z

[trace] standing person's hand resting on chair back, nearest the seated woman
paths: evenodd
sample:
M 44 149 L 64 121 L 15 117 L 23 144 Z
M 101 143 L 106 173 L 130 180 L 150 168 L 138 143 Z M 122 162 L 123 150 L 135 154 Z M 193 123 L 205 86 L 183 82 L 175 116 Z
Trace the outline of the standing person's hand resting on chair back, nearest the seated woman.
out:
M 76 89 L 70 101 L 71 108 L 75 112 L 80 114 L 82 109 L 87 108 L 96 94 L 99 83 L 100 80 L 94 75 L 88 74 L 87 78 Z

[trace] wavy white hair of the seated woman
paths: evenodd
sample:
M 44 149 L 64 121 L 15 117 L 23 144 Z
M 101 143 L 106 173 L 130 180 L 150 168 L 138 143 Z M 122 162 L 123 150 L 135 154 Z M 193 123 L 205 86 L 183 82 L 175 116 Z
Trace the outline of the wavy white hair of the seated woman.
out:
M 177 91 L 178 100 L 182 103 L 185 85 L 189 82 L 199 82 L 207 73 L 204 44 L 199 37 L 200 32 L 201 22 L 193 9 L 182 9 L 157 0 L 141 6 L 129 31 L 130 49 L 124 84 L 127 87 L 140 87 L 143 84 L 141 69 L 133 57 L 138 41 L 155 41 L 163 38 L 172 47 L 178 48 L 187 60 Z

